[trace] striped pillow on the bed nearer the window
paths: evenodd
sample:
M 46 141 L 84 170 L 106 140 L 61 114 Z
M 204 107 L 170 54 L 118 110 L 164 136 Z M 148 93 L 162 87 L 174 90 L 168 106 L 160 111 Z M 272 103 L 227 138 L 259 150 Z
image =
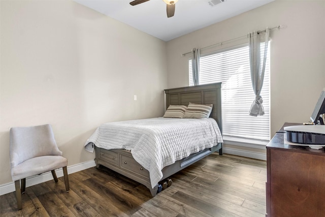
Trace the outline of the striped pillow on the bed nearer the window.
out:
M 212 111 L 212 104 L 203 105 L 189 103 L 184 114 L 184 118 L 208 118 Z

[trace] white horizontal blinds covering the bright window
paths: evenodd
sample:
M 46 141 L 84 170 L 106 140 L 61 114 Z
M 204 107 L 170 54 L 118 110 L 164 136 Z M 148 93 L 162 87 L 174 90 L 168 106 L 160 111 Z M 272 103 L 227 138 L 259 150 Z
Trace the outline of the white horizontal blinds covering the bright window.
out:
M 261 50 L 264 47 L 262 45 Z M 261 53 L 263 55 L 263 52 Z M 191 60 L 189 60 L 188 66 L 189 83 L 192 86 Z M 265 115 L 253 117 L 248 114 L 255 99 L 250 78 L 248 45 L 201 56 L 199 84 L 215 82 L 222 82 L 223 135 L 244 139 L 269 140 L 269 54 L 261 92 Z

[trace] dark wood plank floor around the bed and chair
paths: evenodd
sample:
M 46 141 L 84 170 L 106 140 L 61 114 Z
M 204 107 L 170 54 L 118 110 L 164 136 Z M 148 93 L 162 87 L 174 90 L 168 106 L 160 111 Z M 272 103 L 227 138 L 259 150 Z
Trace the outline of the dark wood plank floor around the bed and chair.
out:
M 26 188 L 17 211 L 14 192 L 0 196 L 0 216 L 265 216 L 266 162 L 217 153 L 171 176 L 171 187 L 150 191 L 106 168 Z

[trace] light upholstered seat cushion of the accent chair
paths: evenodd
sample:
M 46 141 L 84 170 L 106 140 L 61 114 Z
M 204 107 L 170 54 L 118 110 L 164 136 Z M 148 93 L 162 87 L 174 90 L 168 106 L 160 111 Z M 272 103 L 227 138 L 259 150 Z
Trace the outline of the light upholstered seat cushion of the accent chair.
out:
M 12 180 L 16 181 L 33 175 L 66 167 L 68 160 L 62 156 L 41 156 L 24 161 L 11 168 Z

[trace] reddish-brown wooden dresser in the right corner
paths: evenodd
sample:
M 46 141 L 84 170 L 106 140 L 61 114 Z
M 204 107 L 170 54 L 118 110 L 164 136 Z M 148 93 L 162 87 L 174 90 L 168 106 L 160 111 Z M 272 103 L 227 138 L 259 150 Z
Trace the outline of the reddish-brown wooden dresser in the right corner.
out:
M 284 144 L 285 123 L 267 145 L 266 216 L 325 216 L 325 149 Z

